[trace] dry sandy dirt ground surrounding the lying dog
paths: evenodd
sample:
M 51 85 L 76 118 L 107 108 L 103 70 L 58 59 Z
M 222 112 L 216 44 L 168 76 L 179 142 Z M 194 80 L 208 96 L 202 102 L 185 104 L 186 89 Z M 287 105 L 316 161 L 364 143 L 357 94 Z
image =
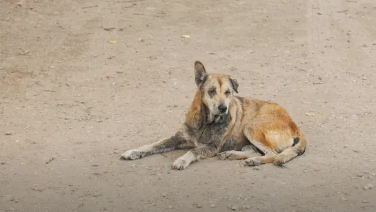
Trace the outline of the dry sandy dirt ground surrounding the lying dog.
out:
M 0 211 L 376 211 L 375 19 L 374 0 L 3 1 Z M 175 133 L 196 60 L 285 107 L 306 153 L 119 160 Z

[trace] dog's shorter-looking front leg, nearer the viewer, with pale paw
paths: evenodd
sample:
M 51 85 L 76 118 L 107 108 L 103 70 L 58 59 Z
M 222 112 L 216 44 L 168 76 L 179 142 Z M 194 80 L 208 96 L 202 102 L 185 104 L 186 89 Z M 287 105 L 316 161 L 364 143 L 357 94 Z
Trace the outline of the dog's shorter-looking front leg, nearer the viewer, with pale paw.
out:
M 191 149 L 180 158 L 177 158 L 172 163 L 172 169 L 183 170 L 190 165 L 191 162 L 195 162 L 199 159 L 212 158 L 218 153 L 218 149 L 215 145 L 203 145 L 195 149 Z

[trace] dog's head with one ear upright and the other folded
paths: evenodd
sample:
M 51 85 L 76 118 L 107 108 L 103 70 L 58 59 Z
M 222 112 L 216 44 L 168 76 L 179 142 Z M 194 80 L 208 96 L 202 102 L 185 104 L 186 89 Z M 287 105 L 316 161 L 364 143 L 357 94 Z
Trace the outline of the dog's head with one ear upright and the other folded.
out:
M 207 74 L 200 61 L 195 62 L 195 81 L 201 90 L 201 100 L 214 115 L 228 113 L 228 105 L 239 84 L 226 74 Z

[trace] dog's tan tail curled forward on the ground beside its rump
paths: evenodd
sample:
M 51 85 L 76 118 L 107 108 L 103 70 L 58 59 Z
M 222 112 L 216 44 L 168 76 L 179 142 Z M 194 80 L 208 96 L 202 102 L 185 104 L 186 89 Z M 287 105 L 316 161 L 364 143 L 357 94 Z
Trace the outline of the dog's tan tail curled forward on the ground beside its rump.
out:
M 299 136 L 294 137 L 293 146 L 288 147 L 279 153 L 275 157 L 273 164 L 279 167 L 284 167 L 284 163 L 293 160 L 293 158 L 296 158 L 297 156 L 300 156 L 304 153 L 304 151 L 306 151 L 306 138 L 304 137 L 304 134 L 299 133 Z

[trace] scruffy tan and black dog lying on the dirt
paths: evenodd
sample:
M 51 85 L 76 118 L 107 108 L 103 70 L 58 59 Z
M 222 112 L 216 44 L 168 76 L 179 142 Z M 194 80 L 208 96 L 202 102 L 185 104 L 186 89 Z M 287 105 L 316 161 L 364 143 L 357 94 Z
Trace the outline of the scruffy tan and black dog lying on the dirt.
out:
M 195 61 L 195 81 L 195 98 L 175 135 L 130 149 L 121 159 L 191 148 L 172 163 L 172 169 L 186 169 L 192 162 L 215 156 L 244 160 L 249 166 L 273 163 L 284 167 L 306 151 L 304 134 L 277 103 L 235 96 L 237 80 L 208 74 L 200 61 Z

